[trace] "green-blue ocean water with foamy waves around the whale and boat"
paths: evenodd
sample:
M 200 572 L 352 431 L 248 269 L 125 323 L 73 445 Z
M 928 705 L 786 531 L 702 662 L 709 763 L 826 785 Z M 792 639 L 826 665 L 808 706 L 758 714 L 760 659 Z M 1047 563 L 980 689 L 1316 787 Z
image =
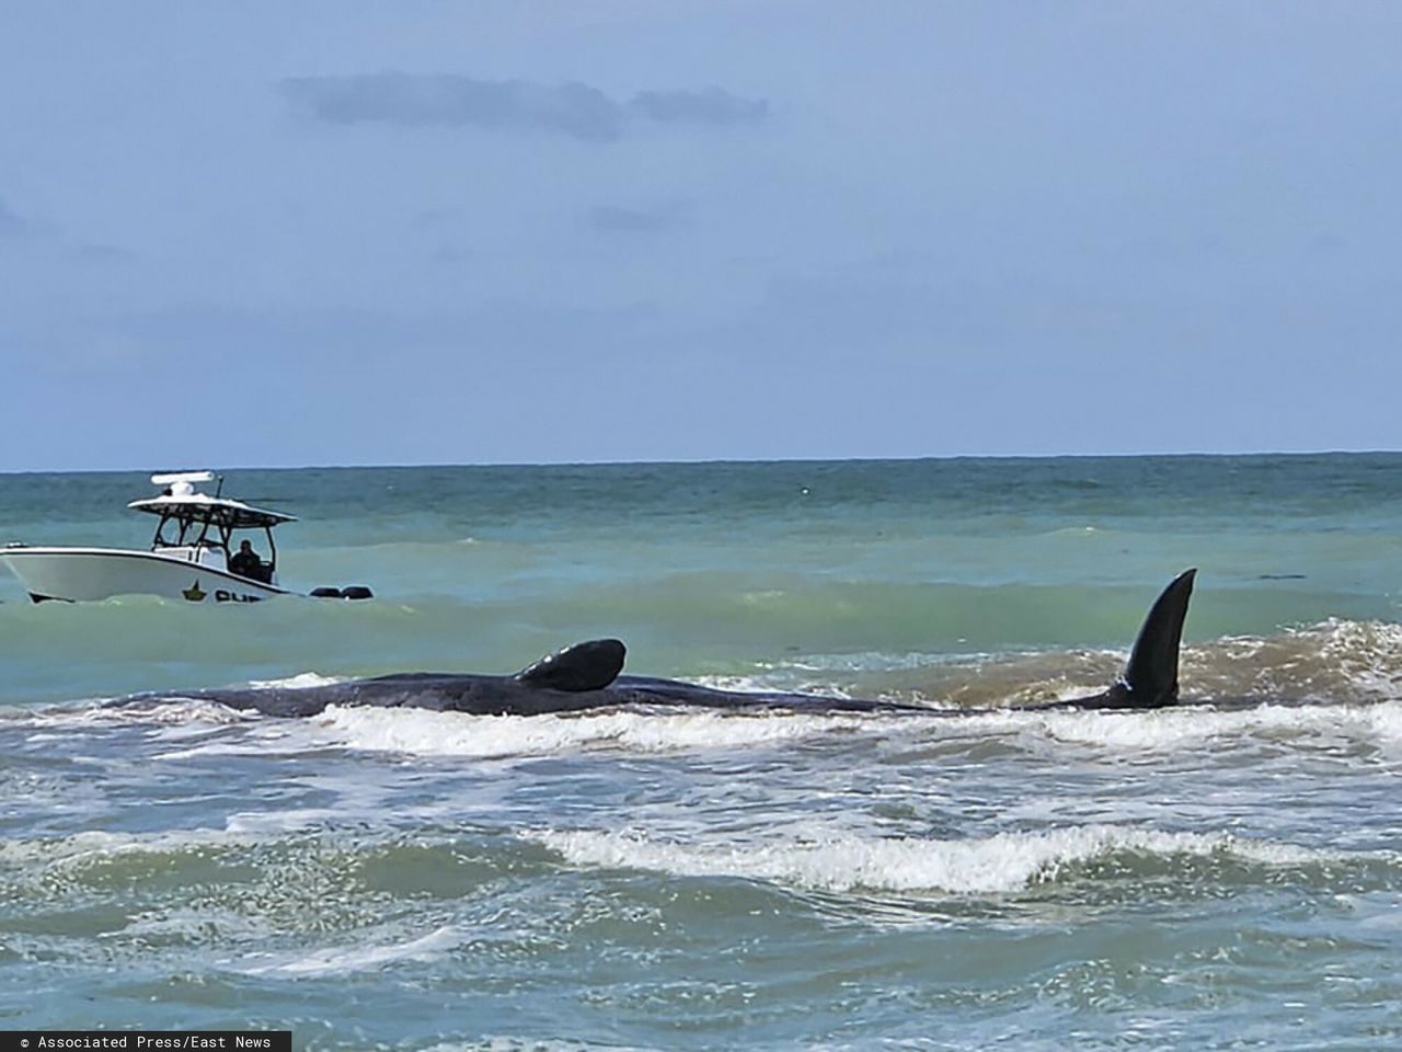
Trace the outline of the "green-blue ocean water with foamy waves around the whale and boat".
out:
M 160 466 L 154 466 L 160 467 Z M 182 467 L 182 466 L 174 466 Z M 1402 1045 L 1402 456 L 231 471 L 285 585 L 0 575 L 0 1027 L 308 1049 Z M 143 474 L 0 544 L 144 546 Z M 1199 567 L 1183 701 L 1091 693 Z M 628 669 L 969 714 L 137 692 Z

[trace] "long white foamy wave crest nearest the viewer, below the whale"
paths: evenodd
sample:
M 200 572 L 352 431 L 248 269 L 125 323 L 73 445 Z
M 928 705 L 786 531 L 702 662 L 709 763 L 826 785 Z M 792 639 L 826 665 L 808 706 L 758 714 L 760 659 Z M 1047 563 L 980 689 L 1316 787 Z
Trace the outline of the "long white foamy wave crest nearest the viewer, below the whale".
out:
M 1110 825 L 998 833 L 970 840 L 833 836 L 707 847 L 592 830 L 533 830 L 523 837 L 580 867 L 653 870 L 679 877 L 740 877 L 823 891 L 960 895 L 1021 891 L 1056 879 L 1066 865 L 1117 853 L 1223 854 L 1262 865 L 1301 865 L 1333 857 L 1228 833 L 1169 833 Z

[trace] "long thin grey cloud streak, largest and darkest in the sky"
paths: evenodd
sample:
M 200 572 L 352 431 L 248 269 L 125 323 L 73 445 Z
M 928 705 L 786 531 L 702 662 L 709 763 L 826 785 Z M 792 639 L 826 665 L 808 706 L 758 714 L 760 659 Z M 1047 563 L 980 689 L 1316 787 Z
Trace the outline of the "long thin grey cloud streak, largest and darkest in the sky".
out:
M 718 87 L 642 91 L 624 104 L 578 81 L 534 84 L 447 73 L 286 77 L 278 87 L 293 109 L 327 123 L 522 128 L 594 143 L 618 139 L 632 121 L 716 128 L 756 123 L 768 112 L 763 100 L 737 98 Z

